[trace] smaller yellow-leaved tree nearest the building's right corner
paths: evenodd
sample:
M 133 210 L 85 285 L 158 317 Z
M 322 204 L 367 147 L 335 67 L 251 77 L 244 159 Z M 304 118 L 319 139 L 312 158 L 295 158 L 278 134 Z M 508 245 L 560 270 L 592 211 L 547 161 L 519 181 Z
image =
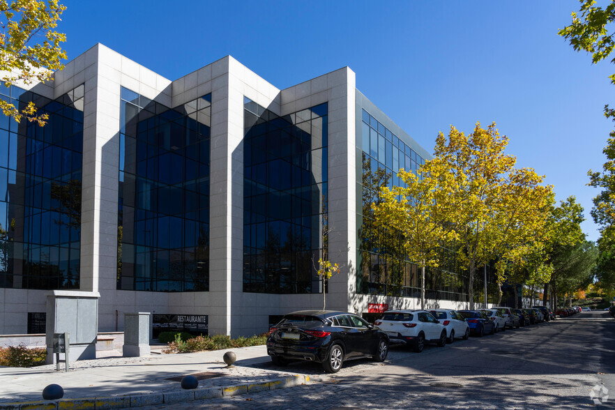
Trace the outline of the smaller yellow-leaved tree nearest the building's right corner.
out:
M 437 268 L 441 243 L 456 236 L 450 223 L 456 204 L 448 200 L 453 174 L 443 165 L 427 161 L 417 174 L 400 169 L 405 187 L 381 188 L 381 202 L 372 204 L 377 225 L 400 231 L 406 255 L 420 267 L 421 309 L 425 309 L 425 266 Z

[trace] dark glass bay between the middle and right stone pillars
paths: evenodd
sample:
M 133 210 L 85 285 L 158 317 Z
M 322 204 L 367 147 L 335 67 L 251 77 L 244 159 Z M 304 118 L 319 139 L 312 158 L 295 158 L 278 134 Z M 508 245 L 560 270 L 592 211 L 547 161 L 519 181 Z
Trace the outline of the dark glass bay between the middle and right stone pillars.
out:
M 244 100 L 243 291 L 319 292 L 327 252 L 327 104 L 278 116 Z

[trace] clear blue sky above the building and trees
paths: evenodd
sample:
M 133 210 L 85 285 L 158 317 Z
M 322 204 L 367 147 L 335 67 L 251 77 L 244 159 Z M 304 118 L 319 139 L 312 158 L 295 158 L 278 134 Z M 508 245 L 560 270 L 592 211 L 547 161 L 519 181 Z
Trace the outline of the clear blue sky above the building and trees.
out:
M 577 0 L 62 1 L 73 59 L 102 43 L 176 79 L 231 54 L 280 89 L 343 66 L 357 88 L 427 151 L 450 125 L 496 122 L 517 166 L 591 221 L 588 169 L 601 169 L 614 124 L 609 63 L 591 65 L 557 31 Z

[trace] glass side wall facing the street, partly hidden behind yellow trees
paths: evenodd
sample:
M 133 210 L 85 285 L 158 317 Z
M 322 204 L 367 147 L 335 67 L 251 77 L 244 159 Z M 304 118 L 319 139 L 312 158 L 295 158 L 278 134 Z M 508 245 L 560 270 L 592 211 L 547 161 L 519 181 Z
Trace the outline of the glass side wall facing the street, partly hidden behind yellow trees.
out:
M 381 187 L 403 186 L 397 172 L 400 169 L 416 172 L 425 163 L 416 151 L 377 121 L 365 109 L 361 110 L 360 128 L 357 130 L 360 152 L 358 166 L 363 192 L 360 212 L 360 273 L 357 291 L 362 294 L 420 297 L 420 268 L 407 259 L 398 231 L 376 227 L 371 204 L 379 201 Z M 452 245 L 454 247 L 454 244 Z M 457 252 L 441 247 L 440 267 L 425 268 L 425 297 L 449 301 L 467 301 L 469 278 L 457 262 Z M 497 285 L 494 269 L 487 266 L 487 287 L 490 302 L 496 302 Z M 477 301 L 484 301 L 483 275 L 475 281 Z

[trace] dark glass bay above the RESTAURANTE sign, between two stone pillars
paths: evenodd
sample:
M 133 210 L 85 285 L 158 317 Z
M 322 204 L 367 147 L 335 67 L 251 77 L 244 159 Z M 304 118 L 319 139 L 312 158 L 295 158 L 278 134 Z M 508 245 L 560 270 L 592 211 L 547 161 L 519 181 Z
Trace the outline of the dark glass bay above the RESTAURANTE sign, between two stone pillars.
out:
M 117 289 L 209 290 L 211 94 L 169 109 L 121 89 Z

